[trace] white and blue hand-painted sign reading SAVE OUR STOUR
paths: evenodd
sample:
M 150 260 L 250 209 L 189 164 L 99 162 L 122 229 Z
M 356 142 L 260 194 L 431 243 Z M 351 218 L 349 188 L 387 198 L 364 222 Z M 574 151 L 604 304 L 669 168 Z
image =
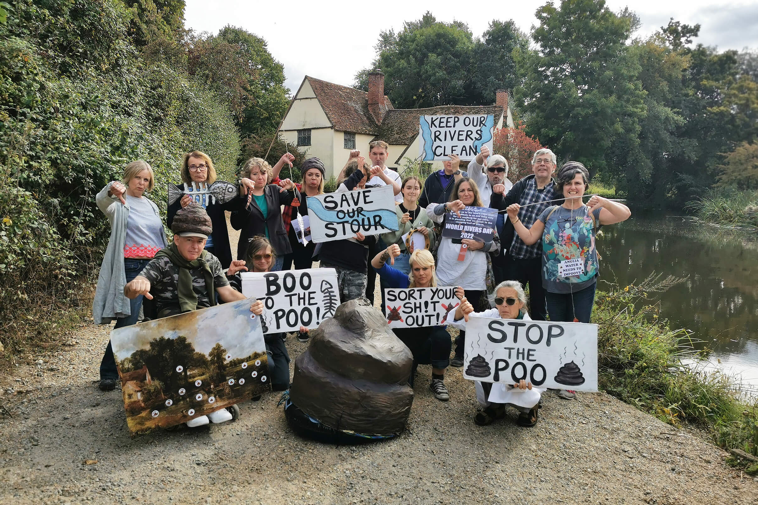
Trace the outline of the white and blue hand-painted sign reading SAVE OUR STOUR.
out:
M 392 186 L 308 197 L 313 242 L 381 235 L 399 229 Z

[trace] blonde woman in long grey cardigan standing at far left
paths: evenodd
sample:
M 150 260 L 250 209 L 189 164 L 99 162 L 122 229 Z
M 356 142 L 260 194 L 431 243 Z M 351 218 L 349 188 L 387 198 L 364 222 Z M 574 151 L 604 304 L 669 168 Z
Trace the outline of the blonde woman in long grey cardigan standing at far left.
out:
M 92 303 L 95 324 L 116 320 L 116 328 L 121 328 L 137 322 L 143 297 L 130 300 L 124 295 L 124 285 L 142 272 L 155 253 L 168 246 L 158 206 L 144 196 L 154 184 L 152 167 L 146 161 L 132 161 L 124 169 L 123 181 L 108 182 L 95 197 L 98 208 L 111 222 L 111 238 Z M 100 389 L 111 391 L 117 379 L 108 341 L 100 363 Z

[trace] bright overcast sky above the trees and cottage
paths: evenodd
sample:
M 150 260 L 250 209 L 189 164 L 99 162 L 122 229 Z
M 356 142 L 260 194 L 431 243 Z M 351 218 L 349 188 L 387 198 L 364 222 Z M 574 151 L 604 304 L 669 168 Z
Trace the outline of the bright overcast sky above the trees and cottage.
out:
M 406 20 L 417 20 L 425 11 L 440 21 L 461 20 L 474 36 L 487 30 L 490 20 L 512 19 L 530 33 L 537 23 L 534 12 L 545 2 L 480 0 L 475 4 L 417 0 L 371 2 L 247 2 L 244 0 L 186 0 L 185 26 L 199 32 L 218 33 L 232 24 L 268 42 L 268 50 L 284 64 L 287 87 L 296 92 L 303 76 L 352 86 L 356 72 L 374 58 L 374 44 L 382 30 L 396 32 Z M 669 17 L 682 23 L 700 23 L 696 42 L 719 50 L 758 47 L 758 2 L 714 0 L 609 0 L 612 11 L 629 6 L 642 20 L 639 35 L 647 36 L 666 25 Z M 377 6 L 379 8 L 377 9 Z M 471 8 L 474 7 L 474 8 Z

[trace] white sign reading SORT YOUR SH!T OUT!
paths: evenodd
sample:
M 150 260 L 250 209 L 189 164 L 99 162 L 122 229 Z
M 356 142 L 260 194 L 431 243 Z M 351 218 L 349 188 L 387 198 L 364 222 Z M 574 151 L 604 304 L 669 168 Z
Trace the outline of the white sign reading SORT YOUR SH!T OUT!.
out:
M 420 328 L 446 323 L 447 312 L 460 304 L 456 288 L 385 288 L 390 328 Z

